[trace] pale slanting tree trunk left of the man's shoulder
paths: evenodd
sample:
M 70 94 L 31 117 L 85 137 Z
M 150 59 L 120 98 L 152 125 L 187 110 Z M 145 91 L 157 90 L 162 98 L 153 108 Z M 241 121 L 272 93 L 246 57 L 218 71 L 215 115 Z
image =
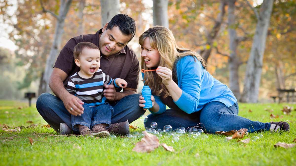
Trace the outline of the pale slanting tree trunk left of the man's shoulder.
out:
M 49 53 L 49 56 L 46 59 L 46 65 L 45 65 L 45 71 L 44 71 L 44 77 L 43 77 L 43 84 L 41 89 L 44 89 L 44 92 L 50 92 L 49 88 L 49 77 L 52 74 L 52 69 L 54 66 L 54 62 L 56 61 L 58 51 L 59 51 L 59 45 L 62 40 L 62 35 L 64 32 L 64 25 L 65 25 L 65 18 L 69 11 L 70 5 L 72 3 L 72 0 L 66 0 L 61 1 L 60 8 L 59 8 L 59 16 L 57 19 L 57 25 L 55 27 L 54 32 L 54 41 L 52 43 L 52 47 Z

